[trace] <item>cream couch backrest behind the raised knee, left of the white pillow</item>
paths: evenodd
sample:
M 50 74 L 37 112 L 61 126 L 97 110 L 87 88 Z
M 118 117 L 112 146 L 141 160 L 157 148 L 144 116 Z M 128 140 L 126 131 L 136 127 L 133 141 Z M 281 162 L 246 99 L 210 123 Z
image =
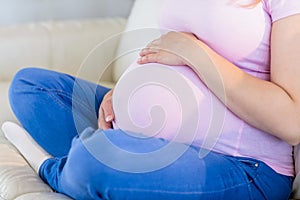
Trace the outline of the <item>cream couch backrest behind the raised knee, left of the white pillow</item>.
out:
M 122 32 L 126 22 L 125 18 L 96 18 L 0 27 L 0 81 L 10 81 L 27 66 L 76 75 L 89 52 Z

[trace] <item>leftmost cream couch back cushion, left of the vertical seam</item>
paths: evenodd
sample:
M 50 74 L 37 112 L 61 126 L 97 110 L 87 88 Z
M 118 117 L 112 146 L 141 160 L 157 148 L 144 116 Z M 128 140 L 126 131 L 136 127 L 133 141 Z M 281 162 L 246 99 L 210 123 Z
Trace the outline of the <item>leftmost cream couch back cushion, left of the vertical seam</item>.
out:
M 51 40 L 42 24 L 0 27 L 0 81 L 9 81 L 24 65 L 47 66 Z

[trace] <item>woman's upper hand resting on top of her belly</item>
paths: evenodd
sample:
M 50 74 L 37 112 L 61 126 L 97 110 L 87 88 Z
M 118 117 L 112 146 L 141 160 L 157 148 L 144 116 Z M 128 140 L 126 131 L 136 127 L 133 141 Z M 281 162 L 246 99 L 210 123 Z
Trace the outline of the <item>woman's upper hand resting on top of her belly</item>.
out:
M 137 62 L 187 65 L 183 52 L 188 50 L 188 44 L 193 40 L 198 39 L 191 33 L 168 32 L 142 49 Z

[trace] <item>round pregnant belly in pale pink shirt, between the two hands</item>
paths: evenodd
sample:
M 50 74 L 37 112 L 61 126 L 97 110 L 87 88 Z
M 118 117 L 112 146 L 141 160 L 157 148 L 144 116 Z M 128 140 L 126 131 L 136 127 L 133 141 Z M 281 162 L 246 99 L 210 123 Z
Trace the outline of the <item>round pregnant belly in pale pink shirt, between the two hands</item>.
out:
M 198 145 L 212 126 L 213 134 L 220 133 L 216 128 L 225 115 L 223 104 L 190 68 L 157 63 L 133 64 L 123 74 L 113 108 L 115 128 Z

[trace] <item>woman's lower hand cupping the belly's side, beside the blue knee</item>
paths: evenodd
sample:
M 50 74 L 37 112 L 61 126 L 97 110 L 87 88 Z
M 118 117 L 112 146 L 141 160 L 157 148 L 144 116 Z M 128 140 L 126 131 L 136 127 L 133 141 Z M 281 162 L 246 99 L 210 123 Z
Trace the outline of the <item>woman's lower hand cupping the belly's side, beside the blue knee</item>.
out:
M 98 128 L 106 130 L 112 128 L 112 121 L 115 119 L 112 104 L 113 89 L 107 92 L 100 104 L 98 111 Z

